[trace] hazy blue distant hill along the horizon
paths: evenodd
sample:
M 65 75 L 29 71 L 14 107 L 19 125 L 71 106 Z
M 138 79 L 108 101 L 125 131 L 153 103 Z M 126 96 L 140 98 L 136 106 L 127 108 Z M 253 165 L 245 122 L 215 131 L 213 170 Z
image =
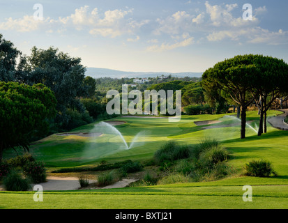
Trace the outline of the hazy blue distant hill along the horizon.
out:
M 202 77 L 203 72 L 126 72 L 121 70 L 111 70 L 105 68 L 87 68 L 85 75 L 100 78 L 100 77 L 112 77 L 112 78 L 122 78 L 122 77 L 157 77 L 160 75 L 172 75 L 172 77 Z

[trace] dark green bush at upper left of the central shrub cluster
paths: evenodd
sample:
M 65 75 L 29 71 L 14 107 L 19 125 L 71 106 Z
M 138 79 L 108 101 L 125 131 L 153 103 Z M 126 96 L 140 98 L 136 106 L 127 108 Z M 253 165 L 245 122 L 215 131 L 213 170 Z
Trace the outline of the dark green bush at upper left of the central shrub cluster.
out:
M 180 146 L 174 141 L 168 141 L 160 150 L 156 151 L 154 160 L 158 164 L 172 162 L 190 157 L 190 152 L 191 149 L 189 146 Z

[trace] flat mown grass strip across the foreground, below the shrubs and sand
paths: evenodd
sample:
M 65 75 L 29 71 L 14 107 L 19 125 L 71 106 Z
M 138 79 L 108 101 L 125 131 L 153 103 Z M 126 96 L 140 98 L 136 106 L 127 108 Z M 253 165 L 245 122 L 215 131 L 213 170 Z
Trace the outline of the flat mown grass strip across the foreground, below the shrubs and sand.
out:
M 288 208 L 286 186 L 253 186 L 252 202 L 243 201 L 242 186 L 139 187 L 114 190 L 45 192 L 43 202 L 32 192 L 0 193 L 0 208 Z

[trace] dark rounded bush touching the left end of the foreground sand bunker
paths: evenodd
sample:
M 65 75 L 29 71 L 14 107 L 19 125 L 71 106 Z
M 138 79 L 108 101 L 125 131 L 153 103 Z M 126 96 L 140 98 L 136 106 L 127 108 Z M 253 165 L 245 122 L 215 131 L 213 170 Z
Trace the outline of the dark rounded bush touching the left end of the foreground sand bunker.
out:
M 23 167 L 23 173 L 31 179 L 32 183 L 43 183 L 46 181 L 46 170 L 43 162 L 27 162 Z

